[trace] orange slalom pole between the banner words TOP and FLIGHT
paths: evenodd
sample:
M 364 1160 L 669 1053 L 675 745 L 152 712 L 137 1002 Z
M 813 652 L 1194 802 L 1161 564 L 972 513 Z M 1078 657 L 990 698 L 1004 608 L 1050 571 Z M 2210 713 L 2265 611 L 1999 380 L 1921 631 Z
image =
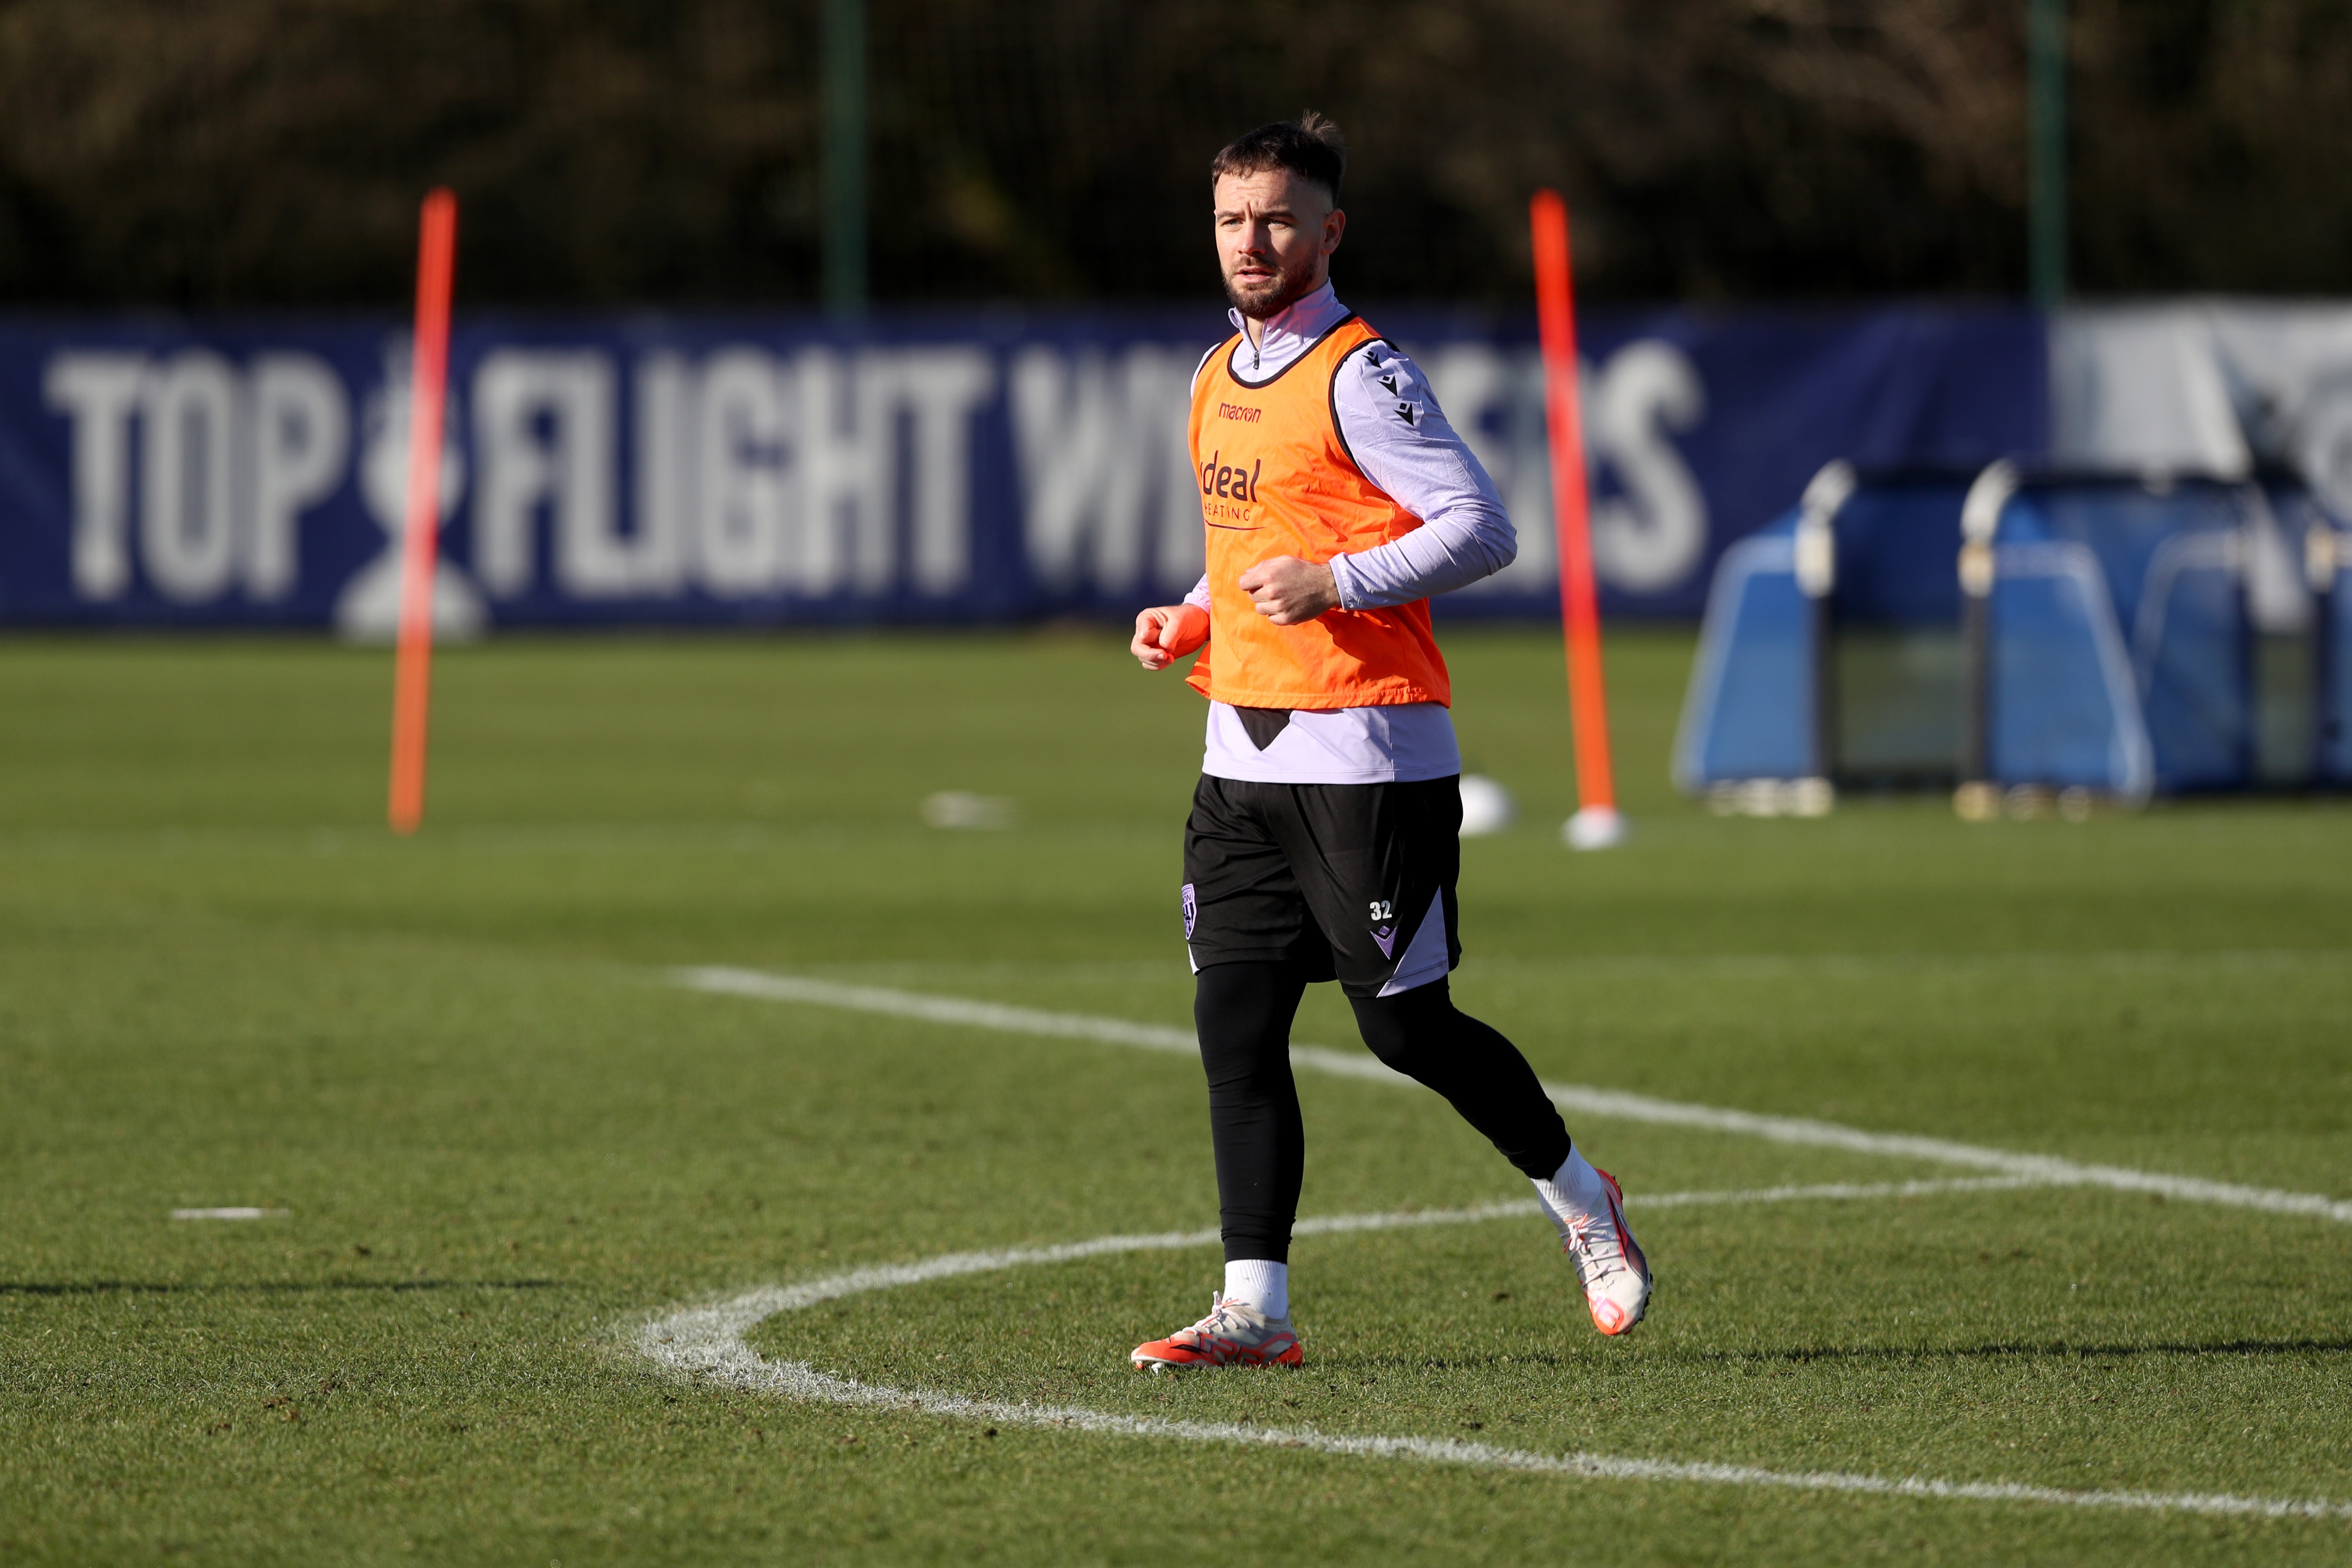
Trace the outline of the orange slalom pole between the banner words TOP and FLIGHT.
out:
M 393 832 L 426 816 L 426 715 L 433 705 L 433 557 L 440 531 L 442 404 L 449 386 L 449 282 L 456 197 L 426 195 L 416 240 L 416 343 L 409 353 L 409 505 L 400 531 L 400 646 L 393 654 Z

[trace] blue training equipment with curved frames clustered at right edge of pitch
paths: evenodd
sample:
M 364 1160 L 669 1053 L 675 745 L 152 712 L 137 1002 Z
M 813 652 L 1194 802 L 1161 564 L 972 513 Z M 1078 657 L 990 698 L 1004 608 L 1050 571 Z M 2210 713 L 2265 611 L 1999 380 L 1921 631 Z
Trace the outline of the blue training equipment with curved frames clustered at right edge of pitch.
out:
M 2305 595 L 2284 665 L 2249 607 L 2263 548 L 2298 557 Z M 1832 463 L 1717 569 L 1675 780 L 2122 802 L 2352 783 L 2347 574 L 2352 536 L 2288 480 Z M 2284 710 L 2307 741 L 2281 769 L 2263 736 Z

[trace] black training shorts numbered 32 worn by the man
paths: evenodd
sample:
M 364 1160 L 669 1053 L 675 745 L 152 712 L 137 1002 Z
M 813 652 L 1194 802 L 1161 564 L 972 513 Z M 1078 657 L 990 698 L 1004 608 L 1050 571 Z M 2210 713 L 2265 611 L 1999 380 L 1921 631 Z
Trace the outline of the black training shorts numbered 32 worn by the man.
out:
M 1272 785 L 1202 773 L 1183 830 L 1183 936 L 1211 964 L 1294 961 L 1392 997 L 1461 961 L 1458 778 Z

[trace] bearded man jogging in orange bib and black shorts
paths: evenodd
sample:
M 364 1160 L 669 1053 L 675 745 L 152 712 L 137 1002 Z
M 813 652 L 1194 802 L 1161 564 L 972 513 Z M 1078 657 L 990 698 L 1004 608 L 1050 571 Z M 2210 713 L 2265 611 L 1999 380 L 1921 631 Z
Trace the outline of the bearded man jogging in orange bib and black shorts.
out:
M 1649 1262 L 1618 1185 L 1571 1147 L 1526 1058 L 1456 1011 L 1461 755 L 1430 595 L 1510 564 L 1494 482 L 1421 371 L 1331 294 L 1345 153 L 1322 115 L 1209 165 L 1235 336 L 1192 376 L 1209 571 L 1136 616 L 1164 670 L 1202 649 L 1209 743 L 1183 846 L 1192 1018 L 1225 1286 L 1138 1368 L 1296 1366 L 1289 1246 L 1305 1128 L 1289 1034 L 1338 980 L 1364 1044 L 1428 1084 L 1536 1185 L 1592 1326 L 1642 1321 Z

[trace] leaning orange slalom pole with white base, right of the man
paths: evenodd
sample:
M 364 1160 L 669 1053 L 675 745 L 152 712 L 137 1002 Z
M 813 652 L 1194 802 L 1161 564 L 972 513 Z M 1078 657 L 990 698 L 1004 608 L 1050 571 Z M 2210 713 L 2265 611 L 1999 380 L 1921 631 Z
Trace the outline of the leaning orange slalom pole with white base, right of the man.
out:
M 1536 242 L 1536 324 L 1543 334 L 1545 423 L 1552 442 L 1552 520 L 1559 536 L 1559 623 L 1569 644 L 1569 719 L 1576 726 L 1576 816 L 1564 835 L 1576 849 L 1609 849 L 1625 837 L 1609 766 L 1609 691 L 1602 679 L 1602 611 L 1592 578 L 1592 503 L 1585 494 L 1585 435 L 1576 407 L 1576 303 L 1569 287 L 1569 207 L 1557 190 L 1529 202 Z

